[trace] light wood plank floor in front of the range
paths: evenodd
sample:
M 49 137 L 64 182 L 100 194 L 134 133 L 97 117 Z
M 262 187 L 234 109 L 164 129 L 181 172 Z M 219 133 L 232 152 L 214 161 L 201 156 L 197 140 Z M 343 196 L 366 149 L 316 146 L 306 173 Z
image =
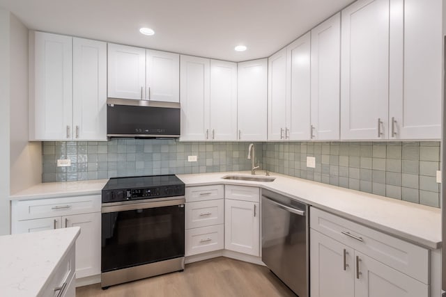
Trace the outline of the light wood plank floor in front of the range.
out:
M 187 264 L 185 271 L 118 284 L 102 290 L 100 284 L 76 289 L 77 297 L 109 296 L 294 296 L 268 268 L 226 257 Z

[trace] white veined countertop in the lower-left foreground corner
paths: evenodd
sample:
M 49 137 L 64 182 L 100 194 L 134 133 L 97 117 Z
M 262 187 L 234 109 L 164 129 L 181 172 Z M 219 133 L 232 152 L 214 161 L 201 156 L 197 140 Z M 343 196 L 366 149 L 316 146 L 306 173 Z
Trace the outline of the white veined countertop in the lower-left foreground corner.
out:
M 79 227 L 0 236 L 0 295 L 40 296 Z

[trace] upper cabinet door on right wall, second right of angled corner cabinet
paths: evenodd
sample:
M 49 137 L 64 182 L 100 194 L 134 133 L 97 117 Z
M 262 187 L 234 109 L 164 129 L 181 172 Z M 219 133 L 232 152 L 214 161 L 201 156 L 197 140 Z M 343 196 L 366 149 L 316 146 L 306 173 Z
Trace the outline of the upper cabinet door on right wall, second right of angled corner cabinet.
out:
M 310 42 L 308 32 L 286 47 L 285 139 L 310 138 Z

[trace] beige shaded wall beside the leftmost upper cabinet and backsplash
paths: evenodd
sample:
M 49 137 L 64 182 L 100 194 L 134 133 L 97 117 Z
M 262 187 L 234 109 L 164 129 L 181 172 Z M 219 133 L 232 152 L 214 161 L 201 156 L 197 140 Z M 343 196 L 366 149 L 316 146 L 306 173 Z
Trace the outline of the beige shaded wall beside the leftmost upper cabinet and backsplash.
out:
M 10 15 L 10 193 L 42 180 L 42 143 L 28 142 L 28 29 Z

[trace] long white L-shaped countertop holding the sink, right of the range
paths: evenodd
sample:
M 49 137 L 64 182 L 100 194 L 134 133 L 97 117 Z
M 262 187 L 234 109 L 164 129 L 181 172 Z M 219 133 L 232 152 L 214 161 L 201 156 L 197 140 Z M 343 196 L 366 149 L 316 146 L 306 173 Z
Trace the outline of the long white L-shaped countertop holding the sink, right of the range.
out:
M 441 247 L 441 209 L 436 207 L 427 207 L 277 173 L 270 173 L 272 177 L 276 177 L 274 182 L 222 179 L 230 174 L 250 175 L 250 172 L 217 172 L 177 176 L 183 180 L 186 186 L 210 184 L 259 186 L 424 248 L 437 249 Z M 265 175 L 261 171 L 256 174 Z

